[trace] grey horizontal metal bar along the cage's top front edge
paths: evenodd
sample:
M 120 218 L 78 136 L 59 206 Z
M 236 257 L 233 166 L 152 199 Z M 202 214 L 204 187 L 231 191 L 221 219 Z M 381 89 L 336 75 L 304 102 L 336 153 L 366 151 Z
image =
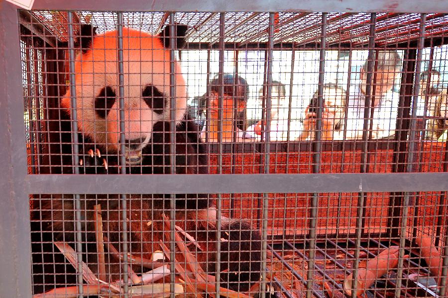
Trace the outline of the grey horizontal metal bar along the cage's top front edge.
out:
M 209 11 L 209 12 L 448 12 L 445 0 L 35 0 L 33 9 L 98 11 Z

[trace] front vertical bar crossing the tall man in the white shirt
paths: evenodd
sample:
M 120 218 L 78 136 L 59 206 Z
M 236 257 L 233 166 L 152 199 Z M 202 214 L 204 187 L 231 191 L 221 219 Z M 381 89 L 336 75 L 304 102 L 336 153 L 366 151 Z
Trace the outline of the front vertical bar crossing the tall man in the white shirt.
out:
M 369 116 L 370 116 L 370 108 L 371 108 L 371 94 L 372 94 L 372 72 L 374 67 L 374 46 L 375 46 L 375 23 L 376 23 L 376 13 L 370 14 L 370 31 L 369 31 L 369 54 L 367 58 L 367 75 L 366 75 L 366 86 L 365 86 L 365 106 L 364 106 L 364 127 L 362 132 L 362 142 L 363 142 L 363 151 L 361 155 L 361 173 L 365 173 L 367 171 L 367 129 L 369 125 Z M 355 260 L 359 259 L 359 249 L 361 247 L 361 234 L 363 229 L 363 210 L 364 210 L 364 200 L 365 194 L 363 192 L 358 195 L 358 203 L 356 208 L 356 232 L 355 232 Z M 353 276 L 358 275 L 358 262 L 354 262 L 353 264 Z M 356 297 L 357 292 L 357 283 L 355 279 L 351 284 L 352 292 L 351 297 Z

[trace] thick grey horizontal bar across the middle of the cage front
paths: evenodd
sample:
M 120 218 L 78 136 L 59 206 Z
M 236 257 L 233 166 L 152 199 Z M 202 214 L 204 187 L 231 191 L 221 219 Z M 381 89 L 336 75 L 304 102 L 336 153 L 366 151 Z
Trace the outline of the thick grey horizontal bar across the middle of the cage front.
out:
M 448 190 L 448 173 L 28 175 L 24 182 L 30 194 L 413 192 Z

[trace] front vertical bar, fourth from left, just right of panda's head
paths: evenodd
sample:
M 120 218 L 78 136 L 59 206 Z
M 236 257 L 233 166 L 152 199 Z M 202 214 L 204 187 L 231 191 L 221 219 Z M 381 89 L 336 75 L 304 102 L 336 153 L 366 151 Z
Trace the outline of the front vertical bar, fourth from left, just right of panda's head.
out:
M 219 61 L 219 84 L 220 94 L 218 100 L 218 173 L 223 173 L 223 117 L 224 117 L 224 16 L 225 13 L 220 13 L 220 61 Z M 236 128 L 234 128 L 236 129 Z M 220 282 L 221 282 L 221 194 L 218 194 L 216 201 L 216 296 L 220 296 Z

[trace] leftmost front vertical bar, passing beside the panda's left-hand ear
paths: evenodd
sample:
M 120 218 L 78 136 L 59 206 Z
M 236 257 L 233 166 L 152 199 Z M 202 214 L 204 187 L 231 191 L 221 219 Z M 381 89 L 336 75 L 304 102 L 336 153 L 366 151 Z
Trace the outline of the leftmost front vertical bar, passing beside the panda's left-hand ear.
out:
M 76 81 L 75 81 L 75 40 L 73 38 L 73 13 L 67 13 L 68 22 L 68 45 L 69 45 L 69 67 L 70 67 L 70 101 L 71 101 L 71 115 L 72 115 L 72 156 L 74 173 L 79 174 L 79 151 L 78 151 L 78 115 L 76 106 Z M 75 225 L 76 225 L 76 254 L 78 257 L 78 293 L 79 297 L 83 295 L 83 245 L 81 235 L 81 198 L 79 194 L 75 195 Z

